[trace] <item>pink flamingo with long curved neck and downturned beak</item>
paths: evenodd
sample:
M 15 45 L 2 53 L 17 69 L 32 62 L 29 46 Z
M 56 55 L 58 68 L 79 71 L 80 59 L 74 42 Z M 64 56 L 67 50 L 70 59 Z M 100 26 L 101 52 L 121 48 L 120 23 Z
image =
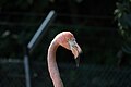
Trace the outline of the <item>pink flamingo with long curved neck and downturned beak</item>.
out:
M 58 34 L 51 41 L 48 48 L 47 63 L 50 78 L 55 87 L 63 87 L 63 83 L 60 78 L 60 73 L 56 62 L 56 51 L 59 46 L 71 50 L 79 66 L 79 54 L 82 52 L 80 46 L 76 44 L 75 38 L 71 32 L 62 32 Z

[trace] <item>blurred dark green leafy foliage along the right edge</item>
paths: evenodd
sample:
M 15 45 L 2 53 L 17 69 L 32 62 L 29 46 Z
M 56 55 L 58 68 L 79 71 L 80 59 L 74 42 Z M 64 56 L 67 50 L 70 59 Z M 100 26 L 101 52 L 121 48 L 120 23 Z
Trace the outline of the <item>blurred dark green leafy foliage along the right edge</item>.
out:
M 116 7 L 114 14 L 123 41 L 122 50 L 131 53 L 131 0 L 119 0 Z

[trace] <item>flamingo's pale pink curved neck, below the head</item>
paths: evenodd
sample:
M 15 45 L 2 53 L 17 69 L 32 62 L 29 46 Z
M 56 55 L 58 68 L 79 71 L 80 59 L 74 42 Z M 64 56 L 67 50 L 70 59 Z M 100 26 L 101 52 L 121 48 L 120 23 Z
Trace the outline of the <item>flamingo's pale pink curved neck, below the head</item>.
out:
M 63 87 L 63 83 L 60 78 L 58 65 L 56 62 L 56 51 L 57 51 L 58 47 L 59 47 L 59 45 L 56 41 L 52 41 L 49 46 L 48 57 L 47 57 L 48 70 L 49 70 L 49 74 L 52 79 L 53 86 L 55 87 Z

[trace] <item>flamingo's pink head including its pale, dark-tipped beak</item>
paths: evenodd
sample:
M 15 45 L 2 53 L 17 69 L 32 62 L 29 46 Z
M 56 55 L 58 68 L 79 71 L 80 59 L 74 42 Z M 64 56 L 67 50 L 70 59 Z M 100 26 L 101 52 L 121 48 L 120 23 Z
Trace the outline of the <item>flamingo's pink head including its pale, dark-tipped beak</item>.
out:
M 71 50 L 75 62 L 76 62 L 76 66 L 79 66 L 79 55 L 82 52 L 82 49 L 80 48 L 80 46 L 78 45 L 74 36 L 72 33 L 70 32 L 62 32 L 57 36 L 57 42 L 62 46 L 63 48 Z

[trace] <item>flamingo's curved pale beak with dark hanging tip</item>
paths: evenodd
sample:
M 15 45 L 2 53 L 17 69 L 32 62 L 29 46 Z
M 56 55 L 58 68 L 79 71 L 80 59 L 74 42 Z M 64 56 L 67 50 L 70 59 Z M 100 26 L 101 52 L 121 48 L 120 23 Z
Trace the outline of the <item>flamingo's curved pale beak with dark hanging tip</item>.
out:
M 82 53 L 82 49 L 80 48 L 80 46 L 76 44 L 76 41 L 73 40 L 69 40 L 69 45 L 70 45 L 70 50 L 72 51 L 75 62 L 76 62 L 76 66 L 79 67 L 79 62 L 80 62 L 80 53 Z

